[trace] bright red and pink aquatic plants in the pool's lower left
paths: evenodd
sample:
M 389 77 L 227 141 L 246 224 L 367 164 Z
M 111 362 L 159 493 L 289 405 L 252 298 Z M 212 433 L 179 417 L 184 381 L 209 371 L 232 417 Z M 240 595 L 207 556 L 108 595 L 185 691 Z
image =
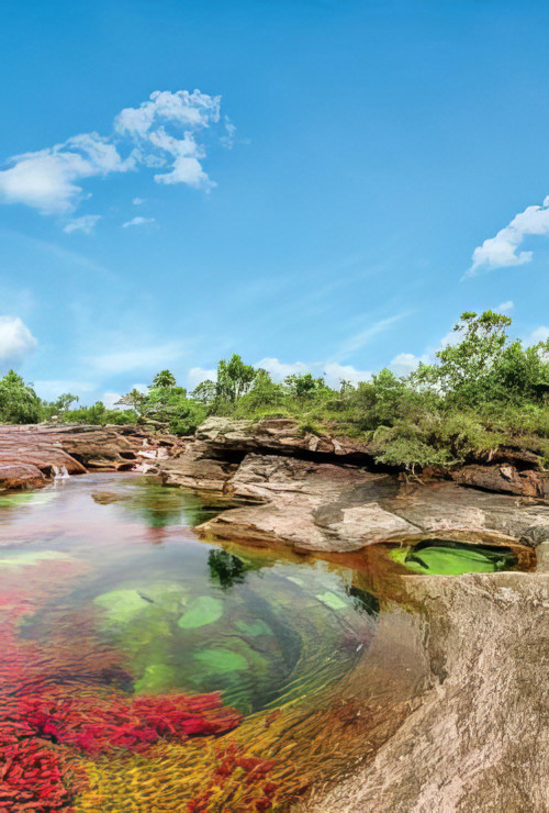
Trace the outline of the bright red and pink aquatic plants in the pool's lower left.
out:
M 0 589 L 0 813 L 70 811 L 71 754 L 143 751 L 159 739 L 181 743 L 238 725 L 242 715 L 219 693 L 132 698 L 101 687 L 105 665 L 112 672 L 122 659 L 89 631 L 78 659 L 74 647 L 22 641 L 22 619 L 51 597 L 58 576 L 44 563 L 40 578 L 29 579 L 29 569 Z

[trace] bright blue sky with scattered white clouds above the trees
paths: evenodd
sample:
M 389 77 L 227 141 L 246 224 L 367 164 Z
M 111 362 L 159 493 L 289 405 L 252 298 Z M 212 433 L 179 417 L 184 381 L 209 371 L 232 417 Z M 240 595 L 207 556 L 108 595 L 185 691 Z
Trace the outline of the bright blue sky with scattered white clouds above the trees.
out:
M 549 335 L 546 2 L 2 9 L 0 371 L 91 402 L 234 352 L 402 372 L 463 310 Z

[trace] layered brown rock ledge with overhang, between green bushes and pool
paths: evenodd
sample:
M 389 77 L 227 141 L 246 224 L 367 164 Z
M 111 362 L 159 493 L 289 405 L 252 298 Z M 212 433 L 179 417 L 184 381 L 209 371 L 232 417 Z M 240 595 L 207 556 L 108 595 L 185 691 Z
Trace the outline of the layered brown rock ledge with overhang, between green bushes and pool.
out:
M 494 469 L 505 467 L 513 469 L 511 464 Z M 224 539 L 348 552 L 434 536 L 529 546 L 549 538 L 549 505 L 533 495 L 511 495 L 507 479 L 502 493 L 493 493 L 445 480 L 421 485 L 372 469 L 366 446 L 300 434 L 293 421 L 251 426 L 210 419 L 195 439 L 173 449 L 159 472 L 167 485 L 223 492 L 245 503 L 198 528 Z M 513 470 L 522 488 L 525 478 Z M 536 478 L 545 492 L 545 479 L 539 472 Z

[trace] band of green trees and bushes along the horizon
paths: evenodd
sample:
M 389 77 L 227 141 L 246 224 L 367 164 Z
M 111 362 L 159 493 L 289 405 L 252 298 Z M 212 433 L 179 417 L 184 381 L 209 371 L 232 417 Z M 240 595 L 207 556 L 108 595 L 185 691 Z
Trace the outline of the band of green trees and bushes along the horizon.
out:
M 512 341 L 508 316 L 461 314 L 456 342 L 405 378 L 382 369 L 369 381 L 338 390 L 311 374 L 272 381 L 240 356 L 220 361 L 215 381 L 188 393 L 169 370 L 147 392 L 132 390 L 107 409 L 78 406 L 75 396 L 41 401 L 10 371 L 0 380 L 0 421 L 142 423 L 186 435 L 209 415 L 257 420 L 294 417 L 303 431 L 329 431 L 372 444 L 377 459 L 414 471 L 448 466 L 502 447 L 528 449 L 549 466 L 549 341 Z

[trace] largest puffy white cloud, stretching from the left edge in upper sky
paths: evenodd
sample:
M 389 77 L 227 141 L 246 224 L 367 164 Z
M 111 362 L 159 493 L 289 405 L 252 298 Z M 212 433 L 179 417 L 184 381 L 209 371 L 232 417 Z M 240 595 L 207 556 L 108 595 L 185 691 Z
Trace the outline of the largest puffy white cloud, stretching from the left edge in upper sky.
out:
M 200 90 L 155 91 L 137 108 L 125 108 L 109 136 L 82 133 L 61 144 L 15 155 L 0 170 L 0 200 L 24 203 L 43 214 L 71 212 L 86 196 L 82 182 L 93 176 L 163 168 L 157 183 L 210 189 L 204 171 L 202 134 L 219 129 L 224 143 L 234 125 L 220 122 L 221 97 Z M 89 196 L 86 196 L 89 197 Z M 142 199 L 134 199 L 143 202 Z M 135 203 L 138 205 L 138 203 Z

